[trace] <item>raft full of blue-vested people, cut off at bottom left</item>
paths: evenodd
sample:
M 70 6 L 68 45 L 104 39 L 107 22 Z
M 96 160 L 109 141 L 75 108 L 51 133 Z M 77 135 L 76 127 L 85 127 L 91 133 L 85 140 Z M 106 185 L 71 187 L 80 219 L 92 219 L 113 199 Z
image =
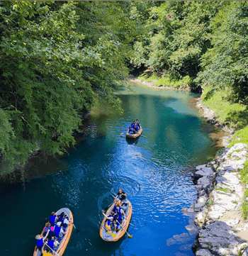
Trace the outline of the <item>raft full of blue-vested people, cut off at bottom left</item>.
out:
M 50 216 L 51 217 L 51 216 Z M 67 220 L 67 221 L 64 221 L 64 220 Z M 51 226 L 51 218 L 50 218 L 50 222 L 48 221 L 45 225 L 45 228 L 47 228 L 47 230 L 44 228 L 43 229 L 43 232 L 40 234 L 40 240 L 43 239 L 43 247 L 41 249 L 38 248 L 37 244 L 35 246 L 35 250 L 33 252 L 33 256 L 62 256 L 63 253 L 64 253 L 64 250 L 65 248 L 67 247 L 67 244 L 69 243 L 69 239 L 71 238 L 71 235 L 72 235 L 72 230 L 73 230 L 73 227 L 74 227 L 74 224 L 73 224 L 73 216 L 72 216 L 72 211 L 69 210 L 69 208 L 61 208 L 60 210 L 58 210 L 56 213 L 55 213 L 55 218 L 54 218 L 55 222 L 52 223 L 52 225 L 54 226 Z M 67 225 L 64 224 L 63 226 L 63 223 L 62 221 L 64 221 L 64 223 L 67 223 Z M 48 235 L 48 233 L 54 233 L 55 234 L 55 226 L 57 227 L 61 227 L 62 229 L 62 235 L 60 238 L 54 238 L 52 237 L 52 235 Z M 47 232 L 46 232 L 47 231 Z M 47 235 L 45 234 L 47 233 Z M 37 235 L 39 236 L 39 235 Z M 36 237 L 37 237 L 36 236 Z M 44 238 L 45 236 L 45 238 Z M 48 241 L 46 243 L 46 236 L 48 238 Z M 36 238 L 35 237 L 35 238 Z M 37 238 L 36 238 L 37 239 Z M 56 249 L 55 247 L 51 248 L 49 246 L 49 240 L 52 239 L 52 244 L 57 245 Z

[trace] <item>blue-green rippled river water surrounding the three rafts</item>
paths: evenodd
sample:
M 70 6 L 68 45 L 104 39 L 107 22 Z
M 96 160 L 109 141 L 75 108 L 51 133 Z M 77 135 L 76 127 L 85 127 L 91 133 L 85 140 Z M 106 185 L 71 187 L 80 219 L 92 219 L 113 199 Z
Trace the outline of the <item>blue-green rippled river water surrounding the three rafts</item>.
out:
M 64 256 L 193 255 L 195 235 L 188 233 L 191 220 L 181 208 L 196 200 L 191 170 L 213 156 L 208 125 L 191 104 L 196 94 L 133 88 L 120 91 L 123 116 L 92 117 L 87 140 L 68 155 L 50 158 L 47 165 L 31 161 L 37 178 L 26 181 L 25 191 L 23 184 L 0 184 L 0 255 L 32 255 L 45 218 L 64 206 L 80 230 Z M 136 118 L 143 136 L 127 141 L 120 133 Z M 133 238 L 106 243 L 98 235 L 101 209 L 119 187 L 133 204 Z

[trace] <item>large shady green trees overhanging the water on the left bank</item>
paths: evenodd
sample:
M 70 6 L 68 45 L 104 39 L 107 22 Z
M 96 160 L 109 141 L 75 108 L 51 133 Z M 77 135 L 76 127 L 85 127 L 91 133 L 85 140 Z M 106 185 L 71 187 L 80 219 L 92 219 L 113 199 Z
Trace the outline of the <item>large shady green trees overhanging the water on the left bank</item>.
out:
M 119 113 L 113 89 L 128 77 L 139 33 L 130 2 L 0 2 L 0 169 L 36 149 L 62 154 L 97 102 Z

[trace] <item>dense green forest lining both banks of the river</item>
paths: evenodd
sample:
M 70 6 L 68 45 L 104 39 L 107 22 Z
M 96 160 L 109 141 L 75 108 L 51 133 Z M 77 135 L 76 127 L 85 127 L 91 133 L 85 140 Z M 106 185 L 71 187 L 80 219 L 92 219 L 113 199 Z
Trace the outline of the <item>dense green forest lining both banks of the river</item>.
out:
M 37 149 L 63 154 L 95 104 L 121 113 L 113 90 L 139 67 L 225 102 L 242 138 L 247 24 L 247 1 L 1 1 L 1 174 Z

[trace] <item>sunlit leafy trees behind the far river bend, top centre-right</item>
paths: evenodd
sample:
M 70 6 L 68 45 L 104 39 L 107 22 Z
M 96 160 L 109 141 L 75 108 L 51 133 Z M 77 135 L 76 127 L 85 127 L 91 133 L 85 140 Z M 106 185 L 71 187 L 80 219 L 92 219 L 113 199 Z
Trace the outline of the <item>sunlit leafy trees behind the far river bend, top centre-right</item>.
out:
M 133 63 L 143 63 L 170 79 L 196 77 L 201 56 L 210 46 L 210 20 L 220 6 L 217 1 L 166 1 L 153 6 L 145 23 L 147 33 L 135 42 Z

